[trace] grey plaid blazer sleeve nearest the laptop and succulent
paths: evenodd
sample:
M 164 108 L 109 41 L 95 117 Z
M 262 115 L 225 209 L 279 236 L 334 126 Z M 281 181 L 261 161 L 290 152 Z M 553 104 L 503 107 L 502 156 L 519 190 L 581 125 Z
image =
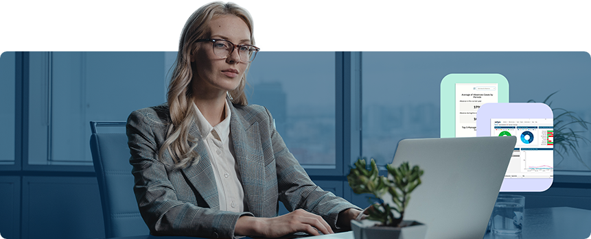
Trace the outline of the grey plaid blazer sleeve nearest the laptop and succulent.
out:
M 269 116 L 269 131 L 275 152 L 279 200 L 290 212 L 301 208 L 322 216 L 333 229 L 339 229 L 336 227 L 339 212 L 349 208 L 362 209 L 316 186 L 273 126 L 273 116 L 268 110 L 266 113 Z

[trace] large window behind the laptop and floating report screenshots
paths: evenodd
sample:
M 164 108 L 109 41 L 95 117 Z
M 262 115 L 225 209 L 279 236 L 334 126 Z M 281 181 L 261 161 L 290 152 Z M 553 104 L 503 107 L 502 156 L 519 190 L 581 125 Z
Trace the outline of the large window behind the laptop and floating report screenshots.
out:
M 362 62 L 362 153 L 378 164 L 391 162 L 403 138 L 439 138 L 439 86 L 450 73 L 500 73 L 509 81 L 509 102 L 542 102 L 558 91 L 546 104 L 591 122 L 591 55 L 584 51 L 364 51 Z M 591 140 L 591 130 L 568 126 Z M 589 145 L 579 140 L 577 149 L 591 167 Z M 555 153 L 555 174 L 589 171 L 572 151 L 564 156 Z

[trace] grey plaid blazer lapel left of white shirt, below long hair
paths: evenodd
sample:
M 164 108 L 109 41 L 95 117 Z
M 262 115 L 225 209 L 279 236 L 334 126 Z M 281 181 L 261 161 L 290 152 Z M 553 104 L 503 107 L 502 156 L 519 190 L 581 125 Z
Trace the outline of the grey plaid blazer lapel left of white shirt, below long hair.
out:
M 183 168 L 183 173 L 191 181 L 194 188 L 199 192 L 201 197 L 205 199 L 209 208 L 220 209 L 220 198 L 218 196 L 218 186 L 216 184 L 216 178 L 213 176 L 213 168 L 211 167 L 211 161 L 207 154 L 207 148 L 197 128 L 197 124 L 193 123 L 189 129 L 189 135 L 198 139 L 197 147 L 195 151 L 199 154 L 199 157 L 191 166 Z M 193 146 L 193 142 L 189 142 L 189 146 Z

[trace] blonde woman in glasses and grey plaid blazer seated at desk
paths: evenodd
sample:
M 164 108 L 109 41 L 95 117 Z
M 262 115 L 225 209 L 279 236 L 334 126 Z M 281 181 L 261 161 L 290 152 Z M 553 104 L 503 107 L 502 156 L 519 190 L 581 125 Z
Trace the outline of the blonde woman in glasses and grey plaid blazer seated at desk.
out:
M 246 72 L 258 50 L 252 45 L 254 21 L 245 8 L 202 5 L 181 30 L 167 103 L 130 114 L 134 192 L 152 234 L 332 234 L 360 214 L 314 185 L 268 110 L 247 105 Z M 277 216 L 279 200 L 292 212 Z

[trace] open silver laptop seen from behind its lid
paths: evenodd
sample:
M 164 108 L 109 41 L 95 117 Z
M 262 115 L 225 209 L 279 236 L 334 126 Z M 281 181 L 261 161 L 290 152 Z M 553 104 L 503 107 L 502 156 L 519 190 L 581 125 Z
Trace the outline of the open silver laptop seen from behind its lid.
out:
M 515 140 L 507 136 L 398 142 L 393 164 L 409 162 L 411 168 L 419 165 L 424 170 L 421 185 L 410 194 L 404 220 L 426 224 L 426 239 L 483 238 Z

